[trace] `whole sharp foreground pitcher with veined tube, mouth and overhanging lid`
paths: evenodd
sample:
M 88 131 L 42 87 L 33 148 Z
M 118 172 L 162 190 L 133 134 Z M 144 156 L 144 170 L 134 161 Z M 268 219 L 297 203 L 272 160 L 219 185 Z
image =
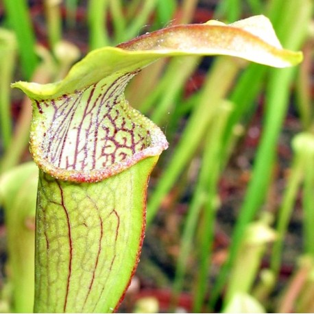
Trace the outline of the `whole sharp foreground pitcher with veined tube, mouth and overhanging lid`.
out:
M 149 174 L 168 145 L 123 91 L 159 58 L 213 54 L 273 67 L 302 60 L 302 53 L 282 49 L 264 16 L 255 16 L 168 27 L 92 51 L 60 82 L 13 84 L 33 102 L 34 311 L 117 309 L 139 260 Z

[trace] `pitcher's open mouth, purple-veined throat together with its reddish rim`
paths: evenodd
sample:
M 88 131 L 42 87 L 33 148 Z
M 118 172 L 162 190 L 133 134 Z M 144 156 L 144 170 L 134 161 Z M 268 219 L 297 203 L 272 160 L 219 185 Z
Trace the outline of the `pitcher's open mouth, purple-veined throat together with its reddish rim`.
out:
M 38 167 L 61 180 L 98 182 L 167 149 L 160 128 L 124 98 L 132 76 L 34 100 L 30 148 Z

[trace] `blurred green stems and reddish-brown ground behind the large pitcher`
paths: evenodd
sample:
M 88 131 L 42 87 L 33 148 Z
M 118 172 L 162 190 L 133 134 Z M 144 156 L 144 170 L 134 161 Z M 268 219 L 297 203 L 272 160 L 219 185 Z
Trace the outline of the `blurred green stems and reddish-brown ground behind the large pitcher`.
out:
M 31 106 L 10 82 L 60 80 L 88 51 L 167 25 L 255 14 L 271 19 L 283 47 L 303 50 L 299 67 L 180 57 L 156 62 L 128 86 L 127 99 L 160 125 L 170 148 L 151 178 L 147 237 L 121 311 L 314 311 L 313 3 L 0 3 L 0 173 L 31 160 Z M 21 200 L 22 180 L 31 179 L 25 174 L 14 190 Z M 1 182 L 8 207 L 11 190 Z M 14 254 L 10 230 L 32 233 L 34 213 L 21 214 L 21 224 L 10 215 L 1 238 Z M 21 242 L 20 261 L 34 250 Z M 2 311 L 23 311 L 14 267 L 11 258 L 3 268 Z

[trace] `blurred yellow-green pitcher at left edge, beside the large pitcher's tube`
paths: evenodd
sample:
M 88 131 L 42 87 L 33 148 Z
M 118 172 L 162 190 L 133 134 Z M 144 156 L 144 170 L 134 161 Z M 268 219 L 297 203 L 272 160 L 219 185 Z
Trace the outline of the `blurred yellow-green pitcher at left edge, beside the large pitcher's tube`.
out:
M 12 313 L 33 313 L 37 185 L 38 168 L 34 162 L 26 162 L 0 176 L 0 204 L 5 210 L 8 245 L 5 282 L 12 285 Z

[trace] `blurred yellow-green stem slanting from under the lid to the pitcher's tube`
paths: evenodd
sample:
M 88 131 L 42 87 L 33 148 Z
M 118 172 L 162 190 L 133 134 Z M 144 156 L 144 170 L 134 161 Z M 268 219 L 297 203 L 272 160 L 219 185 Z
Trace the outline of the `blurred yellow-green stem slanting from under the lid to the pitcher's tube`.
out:
M 238 71 L 239 64 L 232 58 L 219 57 L 215 61 L 213 69 L 204 83 L 200 104 L 191 114 L 180 143 L 176 147 L 176 152 L 149 199 L 147 204 L 148 225 L 154 219 L 163 197 L 167 195 L 171 186 L 176 182 L 178 176 L 180 176 L 180 173 L 182 173 L 184 167 L 193 156 L 198 145 L 200 145 L 208 123 L 213 119 L 217 106 L 228 93 Z M 221 81 L 221 77 L 224 77 L 224 80 Z

